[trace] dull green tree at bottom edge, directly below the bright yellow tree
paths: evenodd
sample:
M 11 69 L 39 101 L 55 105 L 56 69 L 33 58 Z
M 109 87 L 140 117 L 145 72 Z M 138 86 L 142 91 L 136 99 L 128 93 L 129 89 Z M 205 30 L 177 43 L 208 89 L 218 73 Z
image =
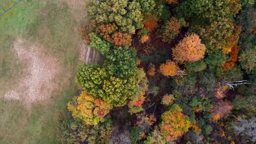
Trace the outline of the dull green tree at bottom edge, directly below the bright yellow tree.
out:
M 61 143 L 109 143 L 113 124 L 109 117 L 98 125 L 86 125 L 83 121 L 73 118 L 69 112 L 61 112 L 59 116 L 59 139 Z

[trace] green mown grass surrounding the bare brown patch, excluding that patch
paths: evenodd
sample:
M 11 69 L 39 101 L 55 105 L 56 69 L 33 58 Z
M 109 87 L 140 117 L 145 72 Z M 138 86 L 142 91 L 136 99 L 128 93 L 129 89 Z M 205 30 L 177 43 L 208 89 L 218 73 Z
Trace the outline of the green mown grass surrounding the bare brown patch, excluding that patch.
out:
M 16 0 L 0 0 L 8 8 Z M 0 143 L 59 143 L 57 117 L 67 101 L 77 94 L 74 75 L 79 61 L 77 9 L 68 0 L 27 0 L 0 17 Z M 2 11 L 0 11 L 1 13 Z M 4 98 L 22 79 L 26 63 L 13 52 L 16 39 L 42 45 L 60 64 L 57 89 L 50 100 L 27 107 L 19 100 Z M 63 81 L 63 82 L 62 82 Z

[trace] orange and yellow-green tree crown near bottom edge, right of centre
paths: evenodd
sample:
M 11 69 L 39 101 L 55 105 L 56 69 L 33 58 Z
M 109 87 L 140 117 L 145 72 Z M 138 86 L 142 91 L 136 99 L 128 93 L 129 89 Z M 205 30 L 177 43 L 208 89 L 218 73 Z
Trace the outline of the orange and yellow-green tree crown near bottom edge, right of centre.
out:
M 167 141 L 181 137 L 190 127 L 189 117 L 179 110 L 169 110 L 162 114 L 160 130 Z

